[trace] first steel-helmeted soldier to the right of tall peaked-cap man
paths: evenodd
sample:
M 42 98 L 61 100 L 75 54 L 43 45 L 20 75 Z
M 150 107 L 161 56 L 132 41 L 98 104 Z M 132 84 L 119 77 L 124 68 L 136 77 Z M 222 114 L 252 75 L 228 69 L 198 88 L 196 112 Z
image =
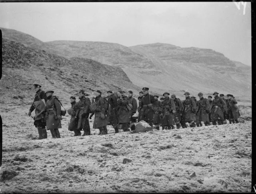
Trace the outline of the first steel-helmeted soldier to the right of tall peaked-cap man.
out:
M 166 126 L 167 129 L 174 129 L 174 113 L 176 112 L 175 103 L 172 98 L 169 98 L 170 93 L 164 92 L 164 101 L 162 102 L 162 126 Z

